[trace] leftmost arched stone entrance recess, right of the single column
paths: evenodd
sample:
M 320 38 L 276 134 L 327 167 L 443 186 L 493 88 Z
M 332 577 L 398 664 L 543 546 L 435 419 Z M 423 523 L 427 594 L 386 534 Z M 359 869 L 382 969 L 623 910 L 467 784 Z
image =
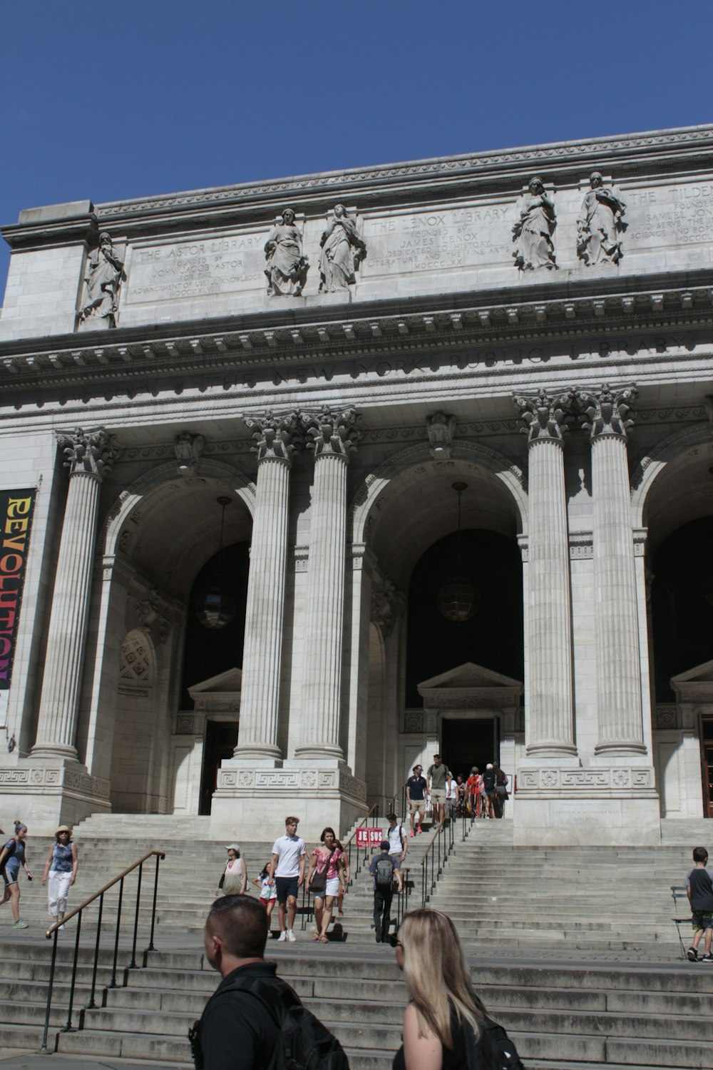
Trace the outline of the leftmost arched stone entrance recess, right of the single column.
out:
M 150 473 L 122 494 L 106 526 L 86 745 L 117 810 L 198 813 L 205 718 L 188 688 L 242 662 L 250 491 L 227 465 L 206 468 L 215 471 Z M 232 631 L 203 638 L 193 587 L 221 545 L 222 496 L 223 570 L 237 611 Z

